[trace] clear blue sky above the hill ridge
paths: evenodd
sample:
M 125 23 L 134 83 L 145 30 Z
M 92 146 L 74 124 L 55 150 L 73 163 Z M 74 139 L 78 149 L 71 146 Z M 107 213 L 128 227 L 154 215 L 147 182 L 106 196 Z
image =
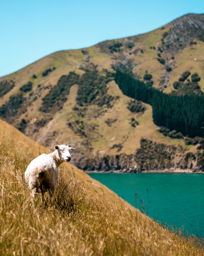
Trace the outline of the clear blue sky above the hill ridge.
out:
M 204 0 L 2 0 L 0 77 L 50 53 L 146 33 L 187 13 L 204 13 Z

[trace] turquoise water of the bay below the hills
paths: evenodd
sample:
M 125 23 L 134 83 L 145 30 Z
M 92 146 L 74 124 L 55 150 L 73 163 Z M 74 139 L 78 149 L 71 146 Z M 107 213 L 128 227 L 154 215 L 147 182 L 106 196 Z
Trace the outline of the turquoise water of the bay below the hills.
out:
M 204 175 L 89 173 L 150 218 L 204 236 Z M 136 193 L 136 195 L 135 195 Z M 150 201 L 150 204 L 148 202 Z M 142 206 L 142 203 L 144 204 Z

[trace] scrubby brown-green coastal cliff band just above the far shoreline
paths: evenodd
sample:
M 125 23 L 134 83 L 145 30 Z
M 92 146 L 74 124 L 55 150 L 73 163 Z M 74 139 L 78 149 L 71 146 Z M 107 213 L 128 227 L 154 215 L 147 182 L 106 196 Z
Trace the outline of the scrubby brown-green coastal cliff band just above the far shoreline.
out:
M 198 146 L 199 147 L 199 146 Z M 167 146 L 141 139 L 141 148 L 135 154 L 99 154 L 96 157 L 74 159 L 75 164 L 84 171 L 138 173 L 143 171 L 186 171 L 204 172 L 204 153 L 186 152 L 182 146 Z

